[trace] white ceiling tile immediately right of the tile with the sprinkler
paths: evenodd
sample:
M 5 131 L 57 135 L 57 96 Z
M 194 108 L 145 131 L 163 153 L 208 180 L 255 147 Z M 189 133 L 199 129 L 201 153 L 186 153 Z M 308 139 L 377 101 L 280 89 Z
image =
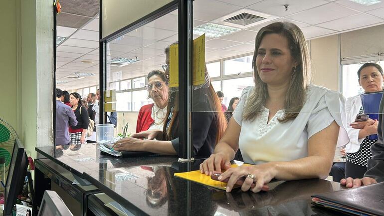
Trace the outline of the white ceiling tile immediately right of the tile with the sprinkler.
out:
M 357 13 L 357 11 L 348 9 L 339 4 L 328 3 L 319 7 L 296 13 L 294 15 L 287 16 L 286 18 L 310 24 L 318 24 Z

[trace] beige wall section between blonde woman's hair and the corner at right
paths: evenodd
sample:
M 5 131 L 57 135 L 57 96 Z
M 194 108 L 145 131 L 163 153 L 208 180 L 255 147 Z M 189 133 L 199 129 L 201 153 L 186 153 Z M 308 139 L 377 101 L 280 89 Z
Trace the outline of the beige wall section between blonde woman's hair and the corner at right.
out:
M 338 35 L 311 40 L 312 83 L 339 90 Z

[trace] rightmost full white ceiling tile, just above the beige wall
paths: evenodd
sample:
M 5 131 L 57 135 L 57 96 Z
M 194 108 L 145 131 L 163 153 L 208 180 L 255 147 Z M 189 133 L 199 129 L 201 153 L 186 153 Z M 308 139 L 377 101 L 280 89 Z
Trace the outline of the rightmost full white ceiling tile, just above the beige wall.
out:
M 362 26 L 372 25 L 383 22 L 383 19 L 376 18 L 371 15 L 359 13 L 352 16 L 343 17 L 333 21 L 318 24 L 320 27 L 330 28 L 338 31 L 354 29 Z

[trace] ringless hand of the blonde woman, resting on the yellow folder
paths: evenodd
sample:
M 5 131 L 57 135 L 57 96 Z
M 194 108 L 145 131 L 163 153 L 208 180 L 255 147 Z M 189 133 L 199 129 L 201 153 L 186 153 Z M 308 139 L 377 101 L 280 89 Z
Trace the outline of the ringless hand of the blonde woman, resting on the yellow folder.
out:
M 231 167 L 228 156 L 222 153 L 212 154 L 200 164 L 200 173 L 212 175 L 212 172 L 222 172 Z

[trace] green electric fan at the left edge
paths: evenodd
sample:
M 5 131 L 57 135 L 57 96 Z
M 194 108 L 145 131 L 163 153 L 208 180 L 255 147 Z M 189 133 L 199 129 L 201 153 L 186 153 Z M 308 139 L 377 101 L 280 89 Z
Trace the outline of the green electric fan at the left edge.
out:
M 16 138 L 18 137 L 12 126 L 0 119 L 0 158 L 5 159 L 5 178 L 8 176 L 9 163 Z

